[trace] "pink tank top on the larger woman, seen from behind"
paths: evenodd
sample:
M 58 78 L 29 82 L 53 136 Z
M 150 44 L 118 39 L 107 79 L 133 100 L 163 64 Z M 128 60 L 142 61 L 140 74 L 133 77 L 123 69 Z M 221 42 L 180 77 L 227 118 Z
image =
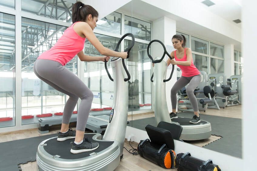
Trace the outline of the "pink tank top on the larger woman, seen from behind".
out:
M 86 38 L 80 37 L 74 31 L 73 26 L 75 23 L 64 31 L 62 37 L 58 39 L 52 48 L 39 55 L 38 59 L 57 61 L 64 66 L 68 61 L 72 60 L 78 52 L 82 51 Z

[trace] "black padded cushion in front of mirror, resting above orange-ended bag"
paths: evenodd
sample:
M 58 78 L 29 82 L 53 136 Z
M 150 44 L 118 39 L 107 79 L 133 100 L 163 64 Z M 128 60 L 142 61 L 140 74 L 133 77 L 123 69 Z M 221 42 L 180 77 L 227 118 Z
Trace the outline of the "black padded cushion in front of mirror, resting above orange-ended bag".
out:
M 149 124 L 146 125 L 145 130 L 152 143 L 161 146 L 166 144 L 168 148 L 174 150 L 174 140 L 170 131 Z

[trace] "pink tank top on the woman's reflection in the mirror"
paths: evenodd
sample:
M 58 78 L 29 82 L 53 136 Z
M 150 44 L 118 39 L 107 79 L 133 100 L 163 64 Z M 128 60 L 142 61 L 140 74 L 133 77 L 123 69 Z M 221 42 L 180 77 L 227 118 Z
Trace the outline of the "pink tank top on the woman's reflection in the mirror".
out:
M 187 48 L 185 48 L 185 50 L 186 49 Z M 186 58 L 187 58 L 186 53 L 184 53 L 184 57 L 182 59 L 179 59 L 179 58 L 177 58 L 176 51 L 177 50 L 175 50 L 175 60 L 176 61 L 186 61 Z M 193 59 L 192 59 L 190 66 L 183 66 L 183 65 L 177 65 L 177 66 L 182 70 L 182 76 L 184 76 L 184 77 L 192 77 L 192 76 L 200 74 L 199 70 L 193 64 Z

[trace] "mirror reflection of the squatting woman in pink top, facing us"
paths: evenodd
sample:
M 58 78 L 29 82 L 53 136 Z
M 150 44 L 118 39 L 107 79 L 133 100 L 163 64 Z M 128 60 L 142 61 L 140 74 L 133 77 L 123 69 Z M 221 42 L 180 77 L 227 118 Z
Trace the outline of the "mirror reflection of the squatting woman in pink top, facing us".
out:
M 194 116 L 192 120 L 189 121 L 189 123 L 199 123 L 201 122 L 201 119 L 198 112 L 198 103 L 194 95 L 194 90 L 201 82 L 201 74 L 193 64 L 192 51 L 190 48 L 185 48 L 185 42 L 186 42 L 185 36 L 174 35 L 172 37 L 172 44 L 176 50 L 172 51 L 170 54 L 170 56 L 172 57 L 172 60 L 171 59 L 167 60 L 168 66 L 169 64 L 177 65 L 182 70 L 182 76 L 173 85 L 171 89 L 172 113 L 170 113 L 170 115 L 171 115 L 171 119 L 178 118 L 176 113 L 176 107 L 177 107 L 176 95 L 180 89 L 182 89 L 188 84 L 188 86 L 186 87 L 186 94 L 188 95 L 194 110 Z

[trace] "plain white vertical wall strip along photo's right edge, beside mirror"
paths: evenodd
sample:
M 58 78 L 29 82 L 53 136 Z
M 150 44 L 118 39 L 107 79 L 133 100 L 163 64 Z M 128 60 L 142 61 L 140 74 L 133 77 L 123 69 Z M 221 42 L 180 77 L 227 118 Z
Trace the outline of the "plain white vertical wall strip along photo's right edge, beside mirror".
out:
M 243 74 L 243 110 L 242 110 L 242 145 L 243 170 L 256 170 L 256 96 L 252 94 L 257 84 L 255 47 L 257 46 L 257 25 L 253 22 L 257 18 L 257 1 L 242 1 L 242 53 L 244 61 Z

